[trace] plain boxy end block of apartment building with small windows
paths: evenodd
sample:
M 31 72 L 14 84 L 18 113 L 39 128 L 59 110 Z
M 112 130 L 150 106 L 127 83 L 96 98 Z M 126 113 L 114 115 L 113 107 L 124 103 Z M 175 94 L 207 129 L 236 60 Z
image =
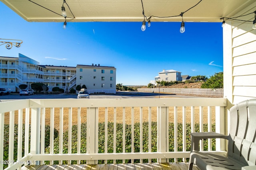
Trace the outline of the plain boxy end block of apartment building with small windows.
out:
M 116 68 L 100 64 L 77 65 L 76 84 L 86 85 L 90 94 L 116 94 Z

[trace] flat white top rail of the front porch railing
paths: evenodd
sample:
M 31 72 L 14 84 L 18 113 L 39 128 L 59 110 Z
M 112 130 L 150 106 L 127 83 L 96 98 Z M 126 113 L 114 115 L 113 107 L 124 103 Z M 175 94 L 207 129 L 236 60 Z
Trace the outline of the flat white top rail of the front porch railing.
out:
M 226 98 L 160 98 L 160 99 L 30 99 L 35 107 L 174 107 L 227 106 Z

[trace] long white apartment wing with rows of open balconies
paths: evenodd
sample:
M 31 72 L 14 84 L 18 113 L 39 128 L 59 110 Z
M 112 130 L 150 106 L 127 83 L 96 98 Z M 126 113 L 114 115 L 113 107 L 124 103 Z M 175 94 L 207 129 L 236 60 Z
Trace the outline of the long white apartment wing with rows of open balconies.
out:
M 98 69 L 99 66 L 92 66 L 90 70 L 93 71 L 95 68 Z M 116 89 L 116 69 L 114 67 L 104 66 L 103 68 L 113 68 L 113 74 L 111 74 L 113 80 L 110 82 L 113 84 L 112 86 L 114 86 L 114 89 Z M 6 88 L 11 92 L 19 92 L 20 84 L 28 85 L 29 89 L 31 88 L 32 83 L 43 83 L 48 86 L 49 92 L 52 91 L 52 88 L 54 87 L 59 87 L 64 89 L 64 92 L 69 92 L 71 88 L 76 89 L 77 70 L 78 68 L 71 66 L 40 65 L 38 61 L 22 54 L 19 54 L 18 58 L 0 57 L 0 88 Z M 88 74 L 89 72 L 90 71 L 88 71 Z M 86 76 L 84 77 L 86 78 Z M 80 84 L 84 82 L 78 81 L 78 83 Z M 96 89 L 96 87 L 98 87 L 98 89 Z M 109 90 L 112 89 L 100 88 L 99 86 L 96 87 L 91 87 L 88 84 L 87 89 L 90 90 L 90 88 L 92 88 L 95 92 L 97 90 L 97 92 L 109 92 Z M 107 91 L 100 91 L 104 89 Z M 115 90 L 112 93 L 115 93 Z

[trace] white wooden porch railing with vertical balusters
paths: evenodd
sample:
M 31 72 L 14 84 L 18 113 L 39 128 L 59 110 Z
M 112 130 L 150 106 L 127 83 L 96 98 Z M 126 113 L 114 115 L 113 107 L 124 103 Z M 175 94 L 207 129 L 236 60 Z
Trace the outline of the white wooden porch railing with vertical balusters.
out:
M 182 158 L 186 162 L 190 154 L 188 135 L 191 132 L 204 131 L 204 125 L 212 131 L 215 125 L 216 132 L 225 133 L 226 101 L 225 98 L 156 98 L 2 102 L 0 160 L 16 162 L 8 167 L 0 164 L 0 169 L 19 169 L 23 165 L 20 162 L 25 165 L 54 164 L 54 160 L 58 161 L 57 164 L 64 161 L 72 164 L 72 160 L 76 160 L 75 164 L 84 160 L 86 164 L 98 164 L 98 160 L 105 164 L 108 160 L 113 163 L 117 160 L 123 163 L 127 160 L 131 163 L 135 160 L 152 162 L 152 159 L 169 162 L 169 158 L 174 158 L 174 162 Z M 4 124 L 9 124 L 7 133 L 4 133 Z M 110 124 L 112 126 L 108 127 Z M 46 125 L 50 126 L 49 134 Z M 196 125 L 199 130 L 196 130 Z M 18 129 L 15 133 L 14 127 Z M 54 128 L 59 131 L 55 141 Z M 45 144 L 46 136 L 50 139 L 49 146 Z M 14 147 L 14 139 L 17 139 L 17 147 Z M 6 140 L 8 144 L 4 143 Z M 203 145 L 201 143 L 201 150 Z M 9 149 L 4 151 L 4 146 Z M 225 141 L 216 140 L 214 147 L 216 153 L 226 153 Z M 214 150 L 211 140 L 208 141 L 208 150 Z M 8 158 L 4 157 L 6 153 Z

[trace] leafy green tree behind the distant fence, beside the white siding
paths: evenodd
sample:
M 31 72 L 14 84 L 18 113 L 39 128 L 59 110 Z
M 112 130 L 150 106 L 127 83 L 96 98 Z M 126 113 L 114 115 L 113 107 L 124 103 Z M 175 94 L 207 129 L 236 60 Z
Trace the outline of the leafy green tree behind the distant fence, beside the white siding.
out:
M 223 72 L 215 73 L 201 85 L 201 88 L 223 88 Z

